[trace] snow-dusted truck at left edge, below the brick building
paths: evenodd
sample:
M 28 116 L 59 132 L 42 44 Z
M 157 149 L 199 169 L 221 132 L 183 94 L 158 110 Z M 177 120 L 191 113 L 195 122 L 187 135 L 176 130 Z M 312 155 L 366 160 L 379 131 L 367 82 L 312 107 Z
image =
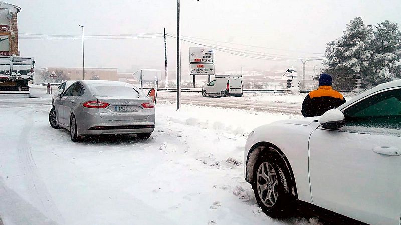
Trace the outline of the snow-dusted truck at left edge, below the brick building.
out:
M 0 56 L 0 94 L 29 96 L 28 81 L 34 77 L 32 57 Z

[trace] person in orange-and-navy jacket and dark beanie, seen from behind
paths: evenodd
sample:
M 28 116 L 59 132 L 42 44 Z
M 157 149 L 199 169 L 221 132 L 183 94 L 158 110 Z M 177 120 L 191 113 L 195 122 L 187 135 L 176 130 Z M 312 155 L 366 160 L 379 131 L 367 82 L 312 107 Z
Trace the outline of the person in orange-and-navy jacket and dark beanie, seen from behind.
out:
M 304 117 L 321 116 L 326 111 L 344 104 L 345 98 L 333 90 L 333 80 L 329 74 L 323 73 L 319 78 L 319 88 L 309 92 L 302 103 Z

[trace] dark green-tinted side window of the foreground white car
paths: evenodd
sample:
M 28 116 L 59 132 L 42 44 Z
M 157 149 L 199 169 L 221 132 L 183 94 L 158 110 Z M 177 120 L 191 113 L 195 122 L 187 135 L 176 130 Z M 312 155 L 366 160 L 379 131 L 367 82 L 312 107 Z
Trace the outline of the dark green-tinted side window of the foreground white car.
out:
M 345 125 L 401 129 L 401 89 L 375 94 L 344 112 Z

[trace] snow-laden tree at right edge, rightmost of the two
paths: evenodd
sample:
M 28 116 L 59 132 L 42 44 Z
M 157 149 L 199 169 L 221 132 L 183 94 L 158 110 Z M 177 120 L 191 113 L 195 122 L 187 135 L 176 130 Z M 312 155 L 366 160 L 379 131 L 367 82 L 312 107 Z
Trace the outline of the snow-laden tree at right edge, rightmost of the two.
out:
M 398 24 L 386 20 L 376 27 L 378 30 L 371 27 L 374 33 L 371 41 L 373 57 L 370 75 L 364 80 L 371 86 L 401 78 L 401 32 Z

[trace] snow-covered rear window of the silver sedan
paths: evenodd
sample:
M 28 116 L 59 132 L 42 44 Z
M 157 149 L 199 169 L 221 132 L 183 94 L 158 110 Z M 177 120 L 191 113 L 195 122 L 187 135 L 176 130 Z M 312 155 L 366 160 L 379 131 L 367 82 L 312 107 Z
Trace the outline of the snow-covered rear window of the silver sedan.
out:
M 93 95 L 99 97 L 137 97 L 138 93 L 132 86 L 96 85 L 91 86 Z

